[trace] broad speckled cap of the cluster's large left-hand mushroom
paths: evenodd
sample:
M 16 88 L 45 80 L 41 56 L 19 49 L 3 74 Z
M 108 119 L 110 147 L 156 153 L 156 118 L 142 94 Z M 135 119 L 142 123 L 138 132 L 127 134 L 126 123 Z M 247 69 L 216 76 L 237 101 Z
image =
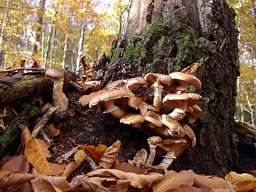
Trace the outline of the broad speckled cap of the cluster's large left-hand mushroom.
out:
M 89 107 L 97 107 L 97 105 L 100 105 L 109 100 L 124 100 L 124 102 L 126 102 L 128 98 L 128 92 L 122 90 L 108 90 L 106 92 L 101 92 L 100 94 L 94 96 L 89 102 Z

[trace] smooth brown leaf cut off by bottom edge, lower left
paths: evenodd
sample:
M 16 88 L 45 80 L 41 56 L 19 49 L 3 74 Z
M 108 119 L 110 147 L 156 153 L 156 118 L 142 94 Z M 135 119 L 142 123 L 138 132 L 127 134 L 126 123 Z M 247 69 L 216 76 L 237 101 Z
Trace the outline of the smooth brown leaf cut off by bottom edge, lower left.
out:
M 54 187 L 52 183 L 42 178 L 35 178 L 30 183 L 35 192 L 62 192 L 62 190 Z

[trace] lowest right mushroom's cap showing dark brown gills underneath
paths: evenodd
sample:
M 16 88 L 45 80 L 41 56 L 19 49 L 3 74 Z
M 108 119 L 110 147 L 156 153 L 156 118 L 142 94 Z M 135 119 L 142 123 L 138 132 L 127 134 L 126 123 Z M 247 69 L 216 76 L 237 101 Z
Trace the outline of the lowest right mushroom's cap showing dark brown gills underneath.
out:
M 157 144 L 157 150 L 165 152 L 174 151 L 175 157 L 179 156 L 189 145 L 184 138 L 176 138 L 172 140 L 163 140 Z

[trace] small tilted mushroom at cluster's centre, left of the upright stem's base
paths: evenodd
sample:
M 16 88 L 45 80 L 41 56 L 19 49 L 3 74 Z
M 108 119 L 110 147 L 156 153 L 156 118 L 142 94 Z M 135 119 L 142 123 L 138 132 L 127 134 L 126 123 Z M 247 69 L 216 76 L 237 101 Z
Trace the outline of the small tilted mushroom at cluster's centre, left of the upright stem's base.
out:
M 143 117 L 146 116 L 146 113 L 148 111 L 153 111 L 155 113 L 160 113 L 160 110 L 156 108 L 155 106 L 147 104 L 145 101 L 141 100 L 140 98 L 136 96 L 131 96 L 128 100 L 128 105 L 130 107 L 133 107 L 135 109 L 139 109 L 141 112 L 141 115 Z

